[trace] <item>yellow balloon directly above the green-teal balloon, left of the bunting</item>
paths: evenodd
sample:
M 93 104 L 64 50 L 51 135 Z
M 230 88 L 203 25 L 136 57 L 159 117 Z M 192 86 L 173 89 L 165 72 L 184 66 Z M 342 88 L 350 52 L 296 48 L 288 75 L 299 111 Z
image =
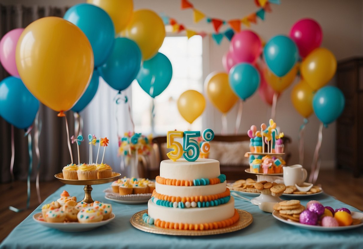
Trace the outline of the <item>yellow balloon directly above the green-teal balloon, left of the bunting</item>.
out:
M 134 12 L 130 23 L 121 34 L 136 42 L 145 61 L 158 53 L 165 38 L 165 26 L 154 11 L 140 9 Z

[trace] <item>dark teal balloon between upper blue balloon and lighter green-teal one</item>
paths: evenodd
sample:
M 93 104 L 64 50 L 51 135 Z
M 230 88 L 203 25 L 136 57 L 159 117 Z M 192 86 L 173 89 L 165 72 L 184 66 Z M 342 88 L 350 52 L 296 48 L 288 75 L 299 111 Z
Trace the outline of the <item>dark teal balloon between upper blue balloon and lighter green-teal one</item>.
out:
M 136 78 L 141 66 L 141 50 L 125 37 L 115 39 L 115 46 L 106 63 L 98 67 L 102 78 L 114 89 L 123 91 Z

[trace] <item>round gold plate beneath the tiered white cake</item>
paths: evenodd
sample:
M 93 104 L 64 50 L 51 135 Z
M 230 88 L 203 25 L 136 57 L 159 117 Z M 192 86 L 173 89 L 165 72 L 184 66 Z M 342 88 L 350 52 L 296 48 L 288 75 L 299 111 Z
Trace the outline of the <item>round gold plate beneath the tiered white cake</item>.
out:
M 240 215 L 240 219 L 231 226 L 220 229 L 211 229 L 211 230 L 178 230 L 178 229 L 170 229 L 170 228 L 160 228 L 159 226 L 146 224 L 142 215 L 147 213 L 147 209 L 135 213 L 131 219 L 130 223 L 135 228 L 142 230 L 148 233 L 158 233 L 158 234 L 167 234 L 167 235 L 176 235 L 176 236 L 205 236 L 205 235 L 213 235 L 213 234 L 221 234 L 221 233 L 230 233 L 237 230 L 241 230 L 247 226 L 249 226 L 252 221 L 252 215 L 244 210 L 236 209 L 238 214 Z

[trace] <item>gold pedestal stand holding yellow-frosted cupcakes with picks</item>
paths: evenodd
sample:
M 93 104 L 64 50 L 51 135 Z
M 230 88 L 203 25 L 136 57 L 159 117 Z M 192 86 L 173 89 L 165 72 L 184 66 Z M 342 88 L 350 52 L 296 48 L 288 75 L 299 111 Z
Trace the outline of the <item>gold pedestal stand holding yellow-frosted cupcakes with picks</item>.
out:
M 94 179 L 94 180 L 68 180 L 63 178 L 63 173 L 58 173 L 54 175 L 60 182 L 70 185 L 85 185 L 83 188 L 85 191 L 85 197 L 82 201 L 85 203 L 93 203 L 93 199 L 91 197 L 92 186 L 95 184 L 109 183 L 114 181 L 117 177 L 121 176 L 120 173 L 112 172 L 111 177 L 102 178 L 102 179 Z

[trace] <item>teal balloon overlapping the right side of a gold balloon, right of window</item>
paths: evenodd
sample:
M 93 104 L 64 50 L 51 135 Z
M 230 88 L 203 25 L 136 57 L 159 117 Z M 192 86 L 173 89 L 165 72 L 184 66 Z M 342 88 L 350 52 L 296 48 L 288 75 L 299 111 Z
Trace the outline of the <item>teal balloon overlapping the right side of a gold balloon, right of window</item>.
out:
M 229 71 L 228 80 L 234 93 L 245 101 L 258 89 L 260 74 L 251 64 L 239 63 Z

